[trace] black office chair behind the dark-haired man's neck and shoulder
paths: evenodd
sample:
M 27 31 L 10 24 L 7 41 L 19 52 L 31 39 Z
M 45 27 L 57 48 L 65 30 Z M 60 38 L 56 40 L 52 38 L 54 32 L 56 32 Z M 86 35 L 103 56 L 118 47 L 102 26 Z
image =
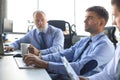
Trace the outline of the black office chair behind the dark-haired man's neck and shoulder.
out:
M 118 41 L 116 40 L 115 31 L 116 31 L 115 26 L 109 26 L 109 27 L 104 28 L 104 33 L 108 36 L 108 38 L 111 40 L 111 42 L 113 42 L 113 44 L 116 48 L 116 43 Z

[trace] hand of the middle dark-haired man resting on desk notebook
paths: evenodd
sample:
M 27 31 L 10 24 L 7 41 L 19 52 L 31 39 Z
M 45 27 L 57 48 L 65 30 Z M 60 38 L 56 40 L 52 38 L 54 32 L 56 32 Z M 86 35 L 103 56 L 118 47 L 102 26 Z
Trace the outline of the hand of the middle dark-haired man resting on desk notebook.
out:
M 23 61 L 26 63 L 27 66 L 29 65 L 35 65 L 35 67 L 38 68 L 48 68 L 48 62 L 43 61 L 42 59 L 39 58 L 39 56 L 36 56 L 34 54 L 25 54 L 23 56 Z

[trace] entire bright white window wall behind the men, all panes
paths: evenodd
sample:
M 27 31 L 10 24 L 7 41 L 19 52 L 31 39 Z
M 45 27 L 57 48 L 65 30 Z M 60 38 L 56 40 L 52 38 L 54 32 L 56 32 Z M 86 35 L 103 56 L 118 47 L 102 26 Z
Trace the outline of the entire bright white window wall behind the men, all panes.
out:
M 95 5 L 109 11 L 107 25 L 112 25 L 110 0 L 7 0 L 7 18 L 13 20 L 13 32 L 27 32 L 28 20 L 32 21 L 33 12 L 39 9 L 48 20 L 68 21 L 76 25 L 78 35 L 89 35 L 84 31 L 85 10 Z

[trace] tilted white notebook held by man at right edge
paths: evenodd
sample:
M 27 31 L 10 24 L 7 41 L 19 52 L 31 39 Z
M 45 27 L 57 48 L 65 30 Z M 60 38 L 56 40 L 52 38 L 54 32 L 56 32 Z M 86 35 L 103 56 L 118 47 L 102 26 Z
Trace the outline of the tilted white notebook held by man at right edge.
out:
M 75 73 L 75 71 L 73 70 L 73 68 L 71 67 L 71 65 L 69 64 L 69 62 L 67 61 L 67 59 L 64 56 L 61 56 L 61 60 L 65 66 L 65 69 L 70 77 L 71 80 L 80 80 L 79 77 L 77 76 L 77 74 Z

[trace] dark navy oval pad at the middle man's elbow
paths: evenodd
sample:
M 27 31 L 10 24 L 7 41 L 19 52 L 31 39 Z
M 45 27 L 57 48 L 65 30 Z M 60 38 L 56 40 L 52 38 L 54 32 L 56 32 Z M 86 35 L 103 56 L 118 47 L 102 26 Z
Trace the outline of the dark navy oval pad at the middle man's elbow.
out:
M 85 73 L 88 73 L 89 71 L 92 71 L 95 69 L 98 65 L 98 62 L 96 60 L 90 60 L 88 61 L 83 68 L 80 70 L 80 75 L 84 75 Z

